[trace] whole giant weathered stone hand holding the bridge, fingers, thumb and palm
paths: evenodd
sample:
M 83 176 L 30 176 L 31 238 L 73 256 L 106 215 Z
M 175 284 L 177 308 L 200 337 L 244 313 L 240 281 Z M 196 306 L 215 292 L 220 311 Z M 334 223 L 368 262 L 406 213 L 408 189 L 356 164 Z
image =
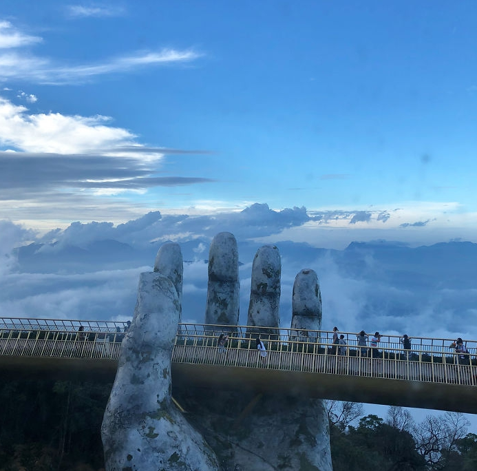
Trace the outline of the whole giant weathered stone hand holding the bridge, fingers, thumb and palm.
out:
M 180 283 L 180 277 L 169 279 L 171 273 L 182 275 L 182 255 L 177 244 L 163 246 L 160 253 L 156 273 L 141 275 L 134 320 L 103 420 L 106 470 L 332 471 L 328 417 L 320 399 L 298 399 L 279 390 L 271 395 L 174 389 L 174 397 L 189 412 L 184 419 L 171 400 L 171 350 L 182 278 Z M 205 319 L 233 331 L 239 319 L 239 285 L 237 243 L 231 233 L 216 235 L 209 259 Z M 249 332 L 256 326 L 277 331 L 280 271 L 277 247 L 257 251 Z M 292 327 L 300 335 L 321 328 L 321 294 L 310 269 L 295 279 Z

